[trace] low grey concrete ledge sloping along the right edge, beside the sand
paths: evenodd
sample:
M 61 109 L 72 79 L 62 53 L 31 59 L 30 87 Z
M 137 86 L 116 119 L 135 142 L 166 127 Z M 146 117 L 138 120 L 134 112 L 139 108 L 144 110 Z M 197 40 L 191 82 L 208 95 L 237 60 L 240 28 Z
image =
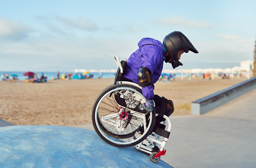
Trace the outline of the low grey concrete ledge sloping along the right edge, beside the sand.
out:
M 191 103 L 191 114 L 201 115 L 256 88 L 256 76 Z

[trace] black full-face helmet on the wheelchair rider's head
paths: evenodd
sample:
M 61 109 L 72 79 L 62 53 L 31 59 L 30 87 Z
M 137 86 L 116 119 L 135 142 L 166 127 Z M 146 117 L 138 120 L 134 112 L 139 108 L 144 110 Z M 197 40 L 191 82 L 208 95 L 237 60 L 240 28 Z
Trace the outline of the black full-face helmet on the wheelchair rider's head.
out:
M 183 49 L 185 53 L 189 50 L 198 53 L 191 42 L 180 31 L 173 31 L 163 38 L 163 45 L 168 52 L 168 56 L 165 58 L 165 62 L 171 59 L 172 68 L 176 68 L 182 63 L 178 61 L 178 51 Z

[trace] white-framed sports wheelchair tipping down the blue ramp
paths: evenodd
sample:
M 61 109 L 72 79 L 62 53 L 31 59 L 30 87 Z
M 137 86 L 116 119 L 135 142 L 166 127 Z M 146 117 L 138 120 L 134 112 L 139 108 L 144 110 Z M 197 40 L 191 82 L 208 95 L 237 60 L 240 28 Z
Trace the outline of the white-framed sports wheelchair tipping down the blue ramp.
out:
M 120 61 L 117 55 L 114 58 L 118 67 L 114 83 L 101 91 L 93 104 L 93 128 L 107 144 L 121 148 L 135 146 L 137 150 L 150 154 L 151 162 L 157 163 L 160 156 L 166 152 L 164 148 L 170 134 L 171 122 L 163 115 L 164 121 L 161 125 L 164 127 L 155 127 L 155 120 L 159 114 L 155 112 L 155 108 L 152 112 L 144 110 L 145 98 L 141 87 L 123 78 L 126 59 Z M 151 138 L 149 135 L 152 132 L 160 138 Z M 136 139 L 133 138 L 135 134 Z M 151 153 L 140 148 L 146 138 L 159 144 L 160 150 Z

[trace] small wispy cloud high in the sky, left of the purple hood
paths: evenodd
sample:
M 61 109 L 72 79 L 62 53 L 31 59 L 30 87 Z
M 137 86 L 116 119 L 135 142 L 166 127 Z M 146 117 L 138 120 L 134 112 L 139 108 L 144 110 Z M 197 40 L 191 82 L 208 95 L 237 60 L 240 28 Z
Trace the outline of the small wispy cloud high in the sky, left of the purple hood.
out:
M 63 22 L 64 24 L 87 30 L 87 31 L 94 31 L 97 29 L 97 25 L 89 19 L 86 18 L 78 18 L 78 19 L 68 19 L 68 18 L 63 18 L 63 17 L 58 17 L 58 20 Z

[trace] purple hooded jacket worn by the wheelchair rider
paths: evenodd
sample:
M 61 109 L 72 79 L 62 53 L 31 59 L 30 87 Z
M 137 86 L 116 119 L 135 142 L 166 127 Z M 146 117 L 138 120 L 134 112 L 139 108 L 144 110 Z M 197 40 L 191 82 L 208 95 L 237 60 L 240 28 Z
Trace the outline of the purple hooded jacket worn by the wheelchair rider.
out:
M 138 49 L 133 52 L 127 60 L 127 66 L 124 71 L 124 77 L 138 84 L 138 68 L 147 67 L 151 71 L 152 85 L 142 87 L 143 96 L 146 99 L 154 97 L 154 83 L 159 79 L 166 51 L 160 41 L 152 38 L 142 38 L 138 42 Z

